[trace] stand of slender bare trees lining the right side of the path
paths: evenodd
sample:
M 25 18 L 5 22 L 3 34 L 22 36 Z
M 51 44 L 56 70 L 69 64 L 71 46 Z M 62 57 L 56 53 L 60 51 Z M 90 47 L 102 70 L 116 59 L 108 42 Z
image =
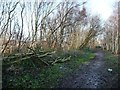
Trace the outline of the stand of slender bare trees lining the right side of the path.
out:
M 104 48 L 112 53 L 119 54 L 119 13 L 115 8 L 113 15 L 105 24 Z

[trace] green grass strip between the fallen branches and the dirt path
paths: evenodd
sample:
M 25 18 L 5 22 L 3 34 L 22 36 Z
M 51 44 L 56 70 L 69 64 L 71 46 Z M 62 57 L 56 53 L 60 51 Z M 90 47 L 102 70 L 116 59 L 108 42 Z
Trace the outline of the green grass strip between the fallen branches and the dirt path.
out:
M 34 68 L 28 64 L 30 63 L 29 61 L 26 61 L 21 65 L 16 65 L 16 67 L 22 68 L 19 72 L 12 71 L 7 74 L 8 72 L 3 71 L 3 87 L 54 88 L 59 83 L 60 78 L 72 73 L 80 64 L 88 62 L 95 57 L 90 50 L 59 52 L 52 58 L 58 56 L 60 58 L 71 56 L 71 59 L 65 63 L 56 63 L 44 68 L 39 65 Z M 52 58 L 48 57 L 45 59 L 49 61 Z

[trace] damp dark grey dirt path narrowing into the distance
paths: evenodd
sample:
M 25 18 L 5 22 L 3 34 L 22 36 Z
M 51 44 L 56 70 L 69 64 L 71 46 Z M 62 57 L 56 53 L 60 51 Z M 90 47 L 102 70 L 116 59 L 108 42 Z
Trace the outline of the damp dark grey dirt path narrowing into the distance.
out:
M 95 53 L 96 57 L 82 65 L 72 75 L 61 80 L 61 88 L 110 88 L 113 87 L 113 72 L 107 69 L 102 51 Z M 116 86 L 115 86 L 116 87 Z

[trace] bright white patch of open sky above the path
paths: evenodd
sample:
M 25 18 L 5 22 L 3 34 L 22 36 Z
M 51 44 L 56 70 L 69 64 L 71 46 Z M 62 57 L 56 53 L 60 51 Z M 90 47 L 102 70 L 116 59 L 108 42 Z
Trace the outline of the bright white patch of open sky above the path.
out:
M 88 7 L 92 14 L 100 14 L 103 19 L 107 19 L 113 11 L 116 0 L 87 0 Z

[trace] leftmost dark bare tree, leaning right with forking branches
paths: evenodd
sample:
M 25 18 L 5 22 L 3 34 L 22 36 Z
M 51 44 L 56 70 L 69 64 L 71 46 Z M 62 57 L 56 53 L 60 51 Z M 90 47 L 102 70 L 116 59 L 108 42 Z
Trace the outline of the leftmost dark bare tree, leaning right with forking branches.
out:
M 4 41 L 3 41 L 4 47 L 3 47 L 2 53 L 4 53 L 8 43 L 10 42 L 10 40 L 12 38 L 11 23 L 13 20 L 12 18 L 15 16 L 14 10 L 17 7 L 19 2 L 15 2 L 12 6 L 12 9 L 11 9 L 12 2 L 8 2 L 8 3 L 5 2 L 5 3 L 6 3 L 6 9 L 4 9 L 4 10 L 8 10 L 8 11 L 4 11 L 4 12 L 7 12 L 8 17 L 7 17 L 7 21 L 5 22 L 5 24 L 3 24 L 3 26 L 1 27 L 0 37 L 4 38 Z M 5 7 L 5 6 L 3 6 L 3 7 Z M 9 32 L 8 32 L 8 30 L 9 30 Z M 7 41 L 6 41 L 6 36 L 8 37 Z

